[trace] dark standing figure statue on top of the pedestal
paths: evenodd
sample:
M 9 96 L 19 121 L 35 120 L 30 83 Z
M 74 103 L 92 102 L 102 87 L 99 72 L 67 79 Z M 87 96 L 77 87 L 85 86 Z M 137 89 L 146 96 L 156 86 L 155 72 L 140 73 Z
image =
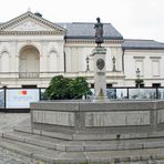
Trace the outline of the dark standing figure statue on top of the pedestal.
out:
M 101 43 L 103 43 L 103 24 L 100 21 L 100 18 L 96 18 L 96 23 L 94 24 L 95 29 L 95 43 L 98 47 L 101 47 Z

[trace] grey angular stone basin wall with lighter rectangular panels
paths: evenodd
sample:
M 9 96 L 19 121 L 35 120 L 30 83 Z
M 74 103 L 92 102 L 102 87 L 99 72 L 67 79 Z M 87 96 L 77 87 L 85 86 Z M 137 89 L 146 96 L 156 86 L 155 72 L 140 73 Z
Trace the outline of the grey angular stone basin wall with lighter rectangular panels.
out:
M 38 102 L 31 104 L 31 123 L 98 133 L 157 130 L 164 123 L 164 101 Z

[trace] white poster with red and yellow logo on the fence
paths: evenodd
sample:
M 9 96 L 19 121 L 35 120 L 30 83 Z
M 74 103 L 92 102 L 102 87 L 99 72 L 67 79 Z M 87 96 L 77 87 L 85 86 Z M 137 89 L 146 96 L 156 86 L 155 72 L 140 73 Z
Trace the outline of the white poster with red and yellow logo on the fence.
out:
M 7 90 L 7 109 L 29 109 L 30 102 L 39 101 L 39 89 Z

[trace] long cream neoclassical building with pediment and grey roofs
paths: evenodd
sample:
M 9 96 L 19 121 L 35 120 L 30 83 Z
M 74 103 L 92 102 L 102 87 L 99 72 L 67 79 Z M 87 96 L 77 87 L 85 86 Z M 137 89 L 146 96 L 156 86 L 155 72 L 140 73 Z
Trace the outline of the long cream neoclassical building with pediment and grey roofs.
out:
M 94 84 L 94 22 L 54 23 L 30 11 L 0 23 L 0 86 L 45 88 L 54 75 L 85 76 Z M 145 86 L 164 86 L 164 43 L 124 39 L 104 23 L 106 82 L 135 86 L 136 70 Z

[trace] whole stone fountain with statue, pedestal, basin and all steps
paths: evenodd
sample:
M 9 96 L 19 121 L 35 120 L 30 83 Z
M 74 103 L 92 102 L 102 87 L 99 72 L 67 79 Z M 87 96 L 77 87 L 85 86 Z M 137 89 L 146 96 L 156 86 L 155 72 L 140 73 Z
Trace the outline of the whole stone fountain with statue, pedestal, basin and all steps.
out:
M 95 29 L 94 101 L 31 103 L 31 125 L 16 127 L 13 134 L 2 137 L 25 144 L 25 151 L 20 151 L 23 154 L 30 144 L 32 157 L 50 163 L 119 164 L 163 158 L 157 147 L 164 147 L 164 101 L 106 100 L 106 50 L 101 47 L 103 24 L 99 18 Z M 39 150 L 33 151 L 33 145 Z

